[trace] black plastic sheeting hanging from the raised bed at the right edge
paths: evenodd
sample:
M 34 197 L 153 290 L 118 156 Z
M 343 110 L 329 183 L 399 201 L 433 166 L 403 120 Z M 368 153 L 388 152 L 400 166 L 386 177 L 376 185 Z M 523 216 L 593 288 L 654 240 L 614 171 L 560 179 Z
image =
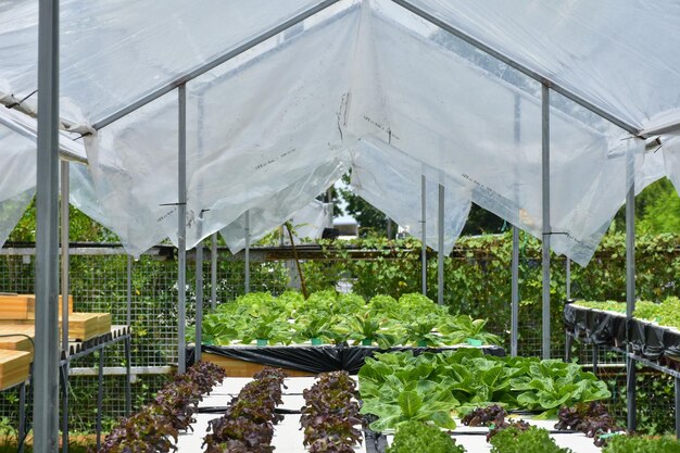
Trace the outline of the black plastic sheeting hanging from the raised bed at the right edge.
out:
M 565 305 L 564 322 L 568 331 L 589 343 L 618 348 L 630 343 L 644 358 L 680 361 L 680 332 L 675 329 L 635 318 L 627 323 L 624 315 L 572 304 Z

